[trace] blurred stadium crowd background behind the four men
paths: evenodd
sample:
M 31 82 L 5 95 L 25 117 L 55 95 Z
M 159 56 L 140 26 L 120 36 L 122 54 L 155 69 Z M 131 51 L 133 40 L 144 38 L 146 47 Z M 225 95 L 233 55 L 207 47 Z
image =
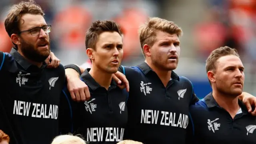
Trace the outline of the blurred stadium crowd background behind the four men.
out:
M 12 47 L 4 29 L 10 5 L 20 0 L 0 0 L 0 50 Z M 236 48 L 246 67 L 244 91 L 256 96 L 256 0 L 35 0 L 52 25 L 51 49 L 62 64 L 82 64 L 85 32 L 94 20 L 115 20 L 124 32 L 122 64 L 144 61 L 138 26 L 148 16 L 173 21 L 184 32 L 176 73 L 188 77 L 196 94 L 203 98 L 211 91 L 205 71 L 210 51 L 220 46 Z

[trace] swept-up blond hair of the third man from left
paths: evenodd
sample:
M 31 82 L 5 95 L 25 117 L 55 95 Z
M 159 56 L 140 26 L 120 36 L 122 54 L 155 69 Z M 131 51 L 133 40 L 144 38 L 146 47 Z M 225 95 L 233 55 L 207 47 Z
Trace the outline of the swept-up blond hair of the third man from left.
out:
M 182 29 L 174 22 L 157 17 L 148 18 L 148 21 L 144 25 L 140 26 L 139 29 L 140 46 L 144 56 L 144 44 L 152 46 L 156 40 L 157 31 L 167 32 L 169 34 L 177 34 L 178 37 L 182 36 Z

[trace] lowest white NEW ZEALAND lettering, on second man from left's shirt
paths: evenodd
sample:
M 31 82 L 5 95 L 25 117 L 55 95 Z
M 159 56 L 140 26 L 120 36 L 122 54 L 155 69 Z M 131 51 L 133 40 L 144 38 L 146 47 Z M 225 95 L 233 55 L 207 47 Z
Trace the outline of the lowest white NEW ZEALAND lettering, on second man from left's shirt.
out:
M 124 128 L 87 128 L 88 142 L 120 142 L 123 137 Z

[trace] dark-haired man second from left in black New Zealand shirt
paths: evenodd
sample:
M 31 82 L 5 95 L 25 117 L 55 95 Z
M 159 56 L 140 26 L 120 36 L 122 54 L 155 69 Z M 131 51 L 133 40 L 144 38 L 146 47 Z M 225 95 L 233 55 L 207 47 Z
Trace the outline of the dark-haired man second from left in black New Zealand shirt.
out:
M 113 21 L 96 21 L 86 32 L 86 53 L 92 68 L 81 75 L 90 99 L 74 102 L 67 89 L 60 101 L 60 131 L 82 134 L 87 142 L 116 144 L 123 139 L 127 124 L 128 93 L 112 79 L 123 57 L 120 26 Z

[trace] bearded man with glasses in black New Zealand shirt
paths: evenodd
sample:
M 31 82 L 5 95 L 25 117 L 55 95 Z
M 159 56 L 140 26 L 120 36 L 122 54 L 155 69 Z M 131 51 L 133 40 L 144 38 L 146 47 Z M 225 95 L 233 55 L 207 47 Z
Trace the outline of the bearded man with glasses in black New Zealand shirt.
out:
M 4 22 L 15 48 L 0 52 L 0 129 L 10 144 L 50 144 L 59 134 L 58 106 L 65 81 L 59 61 L 47 69 L 51 26 L 34 2 L 12 6 Z

